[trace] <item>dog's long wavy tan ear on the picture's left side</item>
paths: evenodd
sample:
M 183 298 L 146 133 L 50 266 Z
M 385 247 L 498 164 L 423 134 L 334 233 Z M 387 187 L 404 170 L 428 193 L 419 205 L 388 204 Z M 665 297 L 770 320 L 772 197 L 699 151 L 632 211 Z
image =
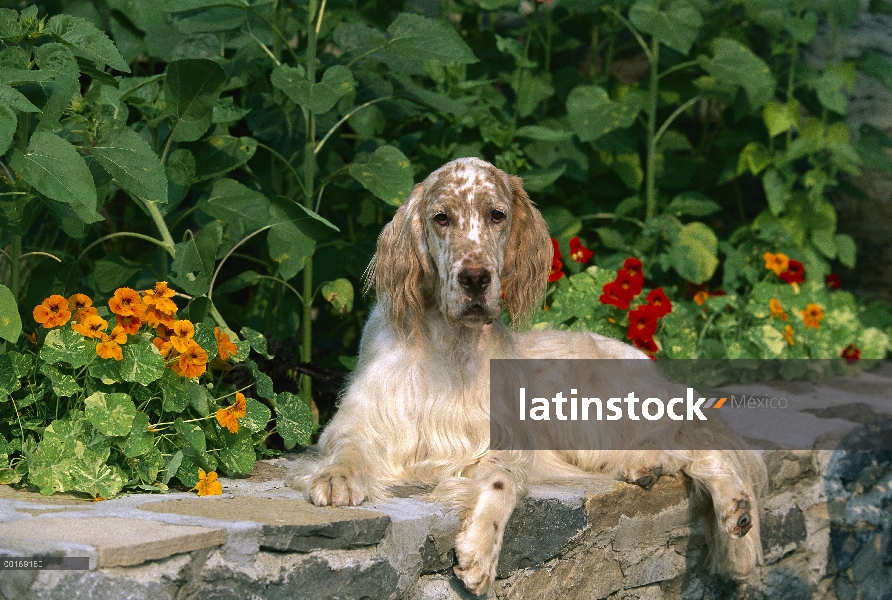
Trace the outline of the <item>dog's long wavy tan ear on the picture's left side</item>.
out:
M 421 212 L 423 193 L 420 183 L 412 188 L 378 236 L 378 249 L 366 270 L 366 289 L 375 288 L 388 322 L 402 335 L 420 324 L 425 280 L 431 272 Z

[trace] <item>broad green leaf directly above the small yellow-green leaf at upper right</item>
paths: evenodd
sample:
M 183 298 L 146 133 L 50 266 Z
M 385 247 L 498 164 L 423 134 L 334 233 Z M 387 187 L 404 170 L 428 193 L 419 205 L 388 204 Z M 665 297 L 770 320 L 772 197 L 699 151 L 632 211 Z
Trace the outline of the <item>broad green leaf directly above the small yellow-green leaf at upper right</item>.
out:
M 750 106 L 755 110 L 771 100 L 774 77 L 765 62 L 753 51 L 730 38 L 712 43 L 713 57 L 701 58 L 703 68 L 722 83 L 742 87 Z

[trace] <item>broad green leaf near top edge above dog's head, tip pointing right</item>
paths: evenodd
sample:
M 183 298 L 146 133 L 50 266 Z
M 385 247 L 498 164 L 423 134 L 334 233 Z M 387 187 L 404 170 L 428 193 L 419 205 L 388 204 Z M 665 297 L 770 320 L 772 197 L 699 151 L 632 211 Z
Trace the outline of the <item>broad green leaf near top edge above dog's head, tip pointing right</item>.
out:
M 385 52 L 413 60 L 471 64 L 477 57 L 452 26 L 420 15 L 400 13 L 387 28 Z

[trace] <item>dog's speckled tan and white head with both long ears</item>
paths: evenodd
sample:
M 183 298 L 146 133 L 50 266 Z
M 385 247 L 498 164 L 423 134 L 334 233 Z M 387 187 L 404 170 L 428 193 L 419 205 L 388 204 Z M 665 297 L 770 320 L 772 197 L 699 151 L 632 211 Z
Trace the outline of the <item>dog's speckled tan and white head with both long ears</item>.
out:
M 548 227 L 521 179 L 463 158 L 413 188 L 378 238 L 368 284 L 403 333 L 426 310 L 483 325 L 503 302 L 519 323 L 545 292 L 551 257 Z

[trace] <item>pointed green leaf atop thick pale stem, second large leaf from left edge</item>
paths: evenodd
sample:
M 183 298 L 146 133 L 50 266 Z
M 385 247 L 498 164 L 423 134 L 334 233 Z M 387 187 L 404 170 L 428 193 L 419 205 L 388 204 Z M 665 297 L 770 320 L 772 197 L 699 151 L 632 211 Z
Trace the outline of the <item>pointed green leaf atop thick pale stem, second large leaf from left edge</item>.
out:
M 120 121 L 105 122 L 93 158 L 128 192 L 167 203 L 167 176 L 161 160 L 138 133 Z

